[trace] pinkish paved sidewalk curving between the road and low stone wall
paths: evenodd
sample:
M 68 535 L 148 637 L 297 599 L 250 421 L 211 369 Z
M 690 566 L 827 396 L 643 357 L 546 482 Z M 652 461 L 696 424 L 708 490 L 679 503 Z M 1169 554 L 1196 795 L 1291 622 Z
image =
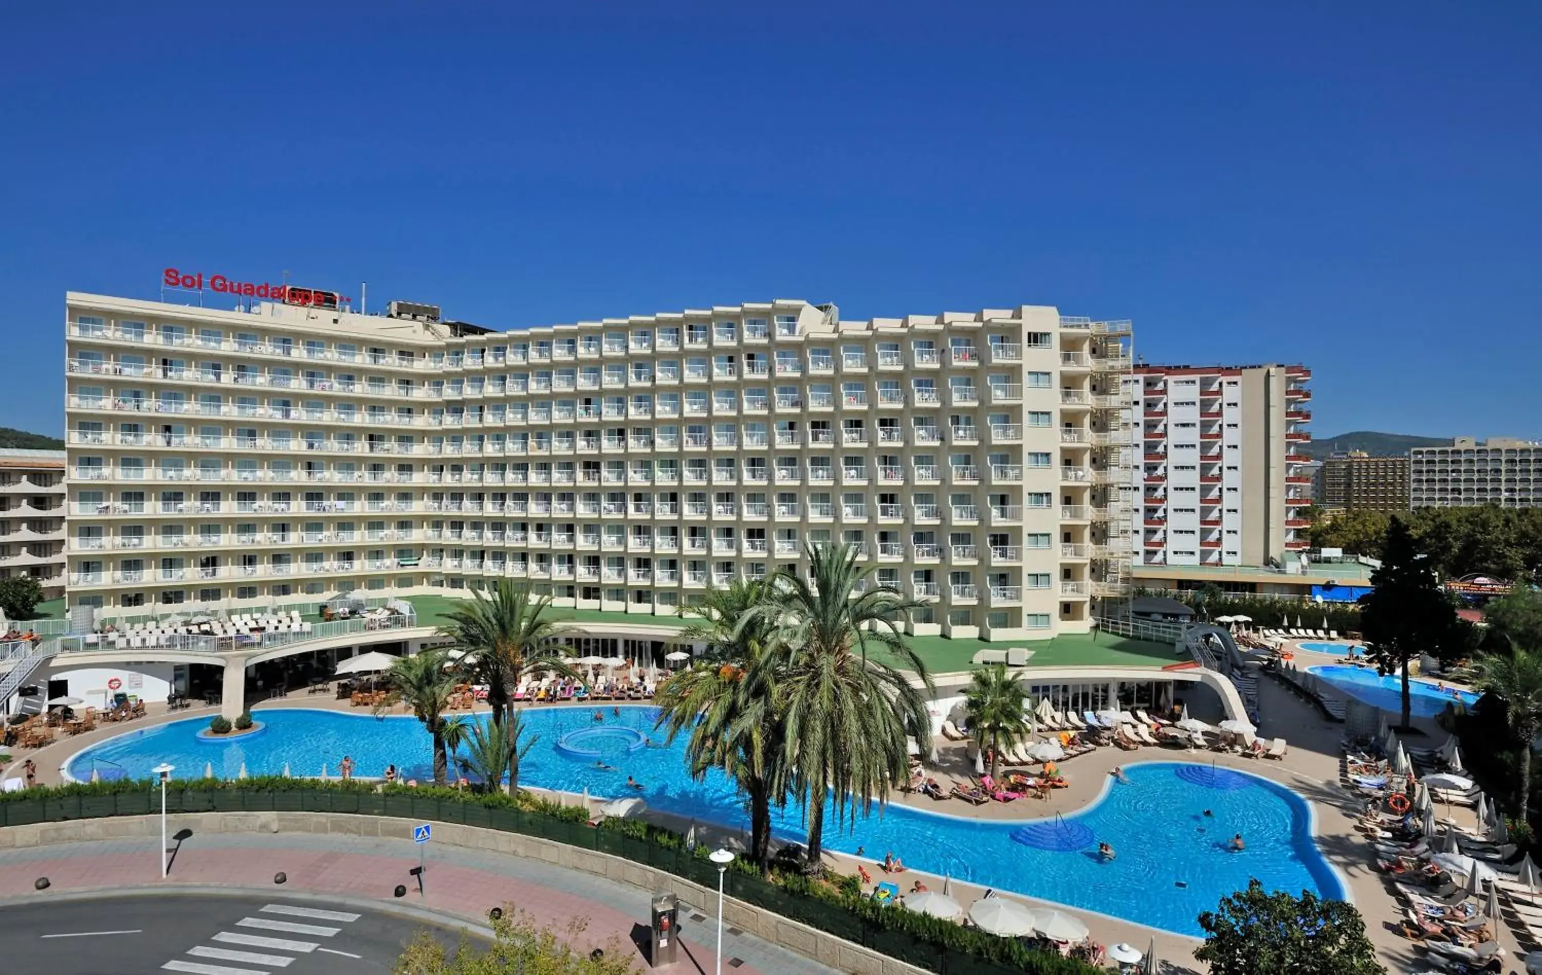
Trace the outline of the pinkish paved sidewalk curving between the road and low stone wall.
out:
M 560 933 L 580 919 L 583 930 L 564 933 L 564 940 L 581 949 L 626 952 L 646 970 L 640 944 L 648 941 L 648 892 L 541 861 L 429 844 L 419 896 L 416 879 L 407 873 L 418 865 L 419 850 L 406 841 L 293 833 L 196 835 L 177 848 L 167 881 L 159 876 L 157 845 L 157 839 L 113 839 L 0 852 L 0 906 L 35 902 L 57 893 L 165 884 L 387 901 L 484 926 L 489 909 L 513 904 Z M 279 870 L 287 875 L 284 887 L 273 882 Z M 49 879 L 46 892 L 34 890 L 40 876 Z M 401 901 L 393 896 L 398 884 L 409 889 Z M 706 975 L 715 961 L 715 904 L 682 906 L 680 921 L 685 936 L 675 970 Z M 822 975 L 833 970 L 734 929 L 723 932 L 723 955 L 725 967 L 742 960 L 734 972 L 745 973 Z

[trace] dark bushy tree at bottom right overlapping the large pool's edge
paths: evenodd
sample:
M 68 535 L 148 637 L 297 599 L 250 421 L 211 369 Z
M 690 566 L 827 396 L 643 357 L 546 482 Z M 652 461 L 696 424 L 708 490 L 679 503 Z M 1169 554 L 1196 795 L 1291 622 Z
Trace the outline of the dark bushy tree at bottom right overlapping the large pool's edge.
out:
M 1194 956 L 1210 975 L 1385 975 L 1365 919 L 1346 901 L 1311 890 L 1269 893 L 1257 879 L 1200 915 L 1204 944 Z

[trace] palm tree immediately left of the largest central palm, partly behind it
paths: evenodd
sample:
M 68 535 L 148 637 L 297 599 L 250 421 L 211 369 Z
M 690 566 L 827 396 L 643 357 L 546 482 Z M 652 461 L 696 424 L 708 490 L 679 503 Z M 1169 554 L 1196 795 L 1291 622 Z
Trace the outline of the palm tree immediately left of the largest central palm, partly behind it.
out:
M 786 785 L 777 757 L 780 720 L 776 679 L 746 676 L 760 666 L 771 636 L 771 617 L 756 612 L 771 589 L 763 582 L 734 580 L 708 589 L 697 606 L 682 609 L 695 622 L 682 631 L 683 642 L 703 642 L 708 654 L 689 670 L 669 677 L 654 705 L 658 727 L 669 741 L 689 731 L 686 757 L 691 774 L 722 768 L 745 795 L 749 807 L 749 859 L 762 870 L 771 861 L 771 804 L 782 804 Z

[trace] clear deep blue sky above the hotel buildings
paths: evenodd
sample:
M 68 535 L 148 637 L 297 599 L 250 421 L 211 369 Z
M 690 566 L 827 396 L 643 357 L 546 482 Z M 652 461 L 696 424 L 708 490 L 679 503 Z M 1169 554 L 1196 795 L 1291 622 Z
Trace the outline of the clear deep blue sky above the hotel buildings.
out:
M 1542 5 L 746 6 L 15 6 L 0 426 L 63 427 L 65 290 L 177 265 L 500 329 L 1055 304 L 1303 361 L 1318 435 L 1542 434 Z

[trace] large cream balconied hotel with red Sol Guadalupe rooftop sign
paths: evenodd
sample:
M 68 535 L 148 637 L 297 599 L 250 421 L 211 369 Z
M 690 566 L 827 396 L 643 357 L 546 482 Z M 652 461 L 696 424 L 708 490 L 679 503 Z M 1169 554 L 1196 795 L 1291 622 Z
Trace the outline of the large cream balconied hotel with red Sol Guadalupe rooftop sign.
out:
M 850 541 L 910 629 L 1090 628 L 1130 557 L 1129 322 L 773 301 L 492 332 L 71 292 L 69 602 L 534 580 L 674 614 Z

